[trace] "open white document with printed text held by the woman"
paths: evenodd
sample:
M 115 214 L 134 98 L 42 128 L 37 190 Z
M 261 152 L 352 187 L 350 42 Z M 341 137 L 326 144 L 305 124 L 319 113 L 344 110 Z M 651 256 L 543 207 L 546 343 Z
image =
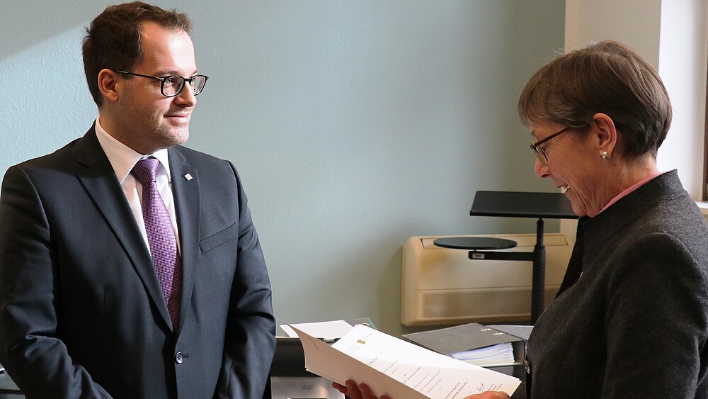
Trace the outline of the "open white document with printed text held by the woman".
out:
M 366 383 L 377 397 L 461 399 L 485 390 L 511 395 L 521 383 L 364 325 L 356 325 L 331 346 L 297 327 L 293 330 L 302 342 L 307 371 L 342 385 L 348 379 Z

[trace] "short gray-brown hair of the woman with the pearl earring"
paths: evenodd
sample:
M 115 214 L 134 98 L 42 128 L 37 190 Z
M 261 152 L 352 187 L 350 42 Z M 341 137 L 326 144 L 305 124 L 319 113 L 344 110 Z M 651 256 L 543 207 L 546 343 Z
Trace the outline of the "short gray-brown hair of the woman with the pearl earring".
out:
M 533 75 L 519 99 L 526 126 L 546 120 L 582 130 L 595 113 L 612 118 L 629 159 L 656 157 L 672 117 L 656 71 L 639 53 L 612 40 L 552 60 Z

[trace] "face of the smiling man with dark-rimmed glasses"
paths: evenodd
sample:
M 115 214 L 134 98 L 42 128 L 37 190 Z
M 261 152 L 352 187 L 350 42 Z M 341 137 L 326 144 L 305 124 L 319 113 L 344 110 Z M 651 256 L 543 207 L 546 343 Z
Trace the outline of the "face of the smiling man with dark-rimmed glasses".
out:
M 183 30 L 166 30 L 156 23 L 144 23 L 143 59 L 129 72 L 154 77 L 197 73 L 194 46 Z M 122 92 L 116 118 L 119 140 L 141 154 L 182 144 L 189 137 L 189 120 L 197 103 L 189 84 L 174 97 L 161 94 L 156 79 L 120 76 Z

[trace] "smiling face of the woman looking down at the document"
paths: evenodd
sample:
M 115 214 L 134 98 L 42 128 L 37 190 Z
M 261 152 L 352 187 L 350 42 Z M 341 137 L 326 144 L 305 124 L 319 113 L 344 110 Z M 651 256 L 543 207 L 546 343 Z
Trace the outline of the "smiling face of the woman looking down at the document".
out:
M 529 127 L 535 141 L 567 128 L 552 122 L 531 123 Z M 588 134 L 569 129 L 542 143 L 539 149 L 546 154 L 547 163 L 536 159 L 536 174 L 552 179 L 556 187 L 566 189 L 566 197 L 576 215 L 593 217 L 612 199 L 612 196 L 607 198 L 607 193 L 601 189 L 603 168 L 600 161 L 603 159 L 592 129 Z

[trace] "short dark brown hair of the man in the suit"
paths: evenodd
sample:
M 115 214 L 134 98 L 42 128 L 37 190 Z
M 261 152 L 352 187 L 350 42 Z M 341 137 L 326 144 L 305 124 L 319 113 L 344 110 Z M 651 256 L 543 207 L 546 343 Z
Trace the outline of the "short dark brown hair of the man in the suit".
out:
M 98 108 L 103 105 L 103 96 L 98 90 L 98 72 L 101 69 L 130 71 L 142 60 L 142 24 L 146 22 L 187 33 L 192 30 L 192 21 L 185 13 L 175 9 L 166 11 L 142 1 L 108 6 L 86 28 L 81 47 L 84 72 Z

